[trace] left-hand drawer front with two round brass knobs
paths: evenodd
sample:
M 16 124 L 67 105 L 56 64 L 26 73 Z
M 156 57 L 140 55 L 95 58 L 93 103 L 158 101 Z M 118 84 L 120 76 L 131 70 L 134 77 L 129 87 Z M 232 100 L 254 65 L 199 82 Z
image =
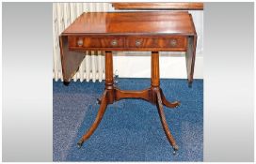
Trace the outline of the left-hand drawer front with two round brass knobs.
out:
M 123 48 L 122 37 L 70 37 L 72 48 Z

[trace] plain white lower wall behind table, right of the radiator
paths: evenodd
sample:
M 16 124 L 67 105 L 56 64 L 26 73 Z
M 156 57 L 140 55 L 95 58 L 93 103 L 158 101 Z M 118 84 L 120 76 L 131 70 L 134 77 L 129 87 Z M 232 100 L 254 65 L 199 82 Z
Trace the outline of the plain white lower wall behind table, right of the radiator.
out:
M 114 55 L 114 72 L 117 72 L 121 78 L 150 78 L 151 77 L 151 56 L 132 54 L 123 54 L 125 52 L 116 52 Z M 180 55 L 167 55 L 160 52 L 160 78 L 165 79 L 186 79 L 186 66 L 184 52 Z M 203 57 L 196 57 L 194 79 L 203 79 Z

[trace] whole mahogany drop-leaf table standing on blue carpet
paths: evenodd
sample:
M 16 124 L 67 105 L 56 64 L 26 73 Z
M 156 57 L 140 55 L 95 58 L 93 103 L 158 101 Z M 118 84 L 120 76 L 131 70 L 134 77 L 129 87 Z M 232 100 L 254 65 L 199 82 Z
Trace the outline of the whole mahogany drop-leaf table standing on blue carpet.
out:
M 159 52 L 186 52 L 187 80 L 193 82 L 197 33 L 187 11 L 88 12 L 83 13 L 60 35 L 60 52 L 64 83 L 71 82 L 87 51 L 105 52 L 105 89 L 100 109 L 92 126 L 77 143 L 88 140 L 100 124 L 106 107 L 122 98 L 141 98 L 155 104 L 168 142 L 178 150 L 168 128 L 163 106 L 175 108 L 160 88 Z M 120 90 L 113 82 L 112 51 L 152 52 L 151 86 L 141 91 Z

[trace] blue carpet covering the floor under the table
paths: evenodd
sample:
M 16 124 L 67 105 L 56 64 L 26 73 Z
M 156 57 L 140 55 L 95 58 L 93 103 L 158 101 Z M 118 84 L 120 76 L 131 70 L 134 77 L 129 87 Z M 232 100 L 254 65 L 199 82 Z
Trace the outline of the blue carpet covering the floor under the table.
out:
M 121 89 L 140 90 L 150 79 L 119 79 Z M 98 112 L 96 98 L 104 82 L 54 82 L 54 161 L 202 161 L 203 81 L 188 88 L 186 80 L 161 80 L 168 100 L 180 100 L 177 109 L 165 107 L 169 128 L 179 145 L 177 155 L 162 128 L 156 106 L 139 99 L 108 105 L 94 134 L 78 149 L 76 142 Z

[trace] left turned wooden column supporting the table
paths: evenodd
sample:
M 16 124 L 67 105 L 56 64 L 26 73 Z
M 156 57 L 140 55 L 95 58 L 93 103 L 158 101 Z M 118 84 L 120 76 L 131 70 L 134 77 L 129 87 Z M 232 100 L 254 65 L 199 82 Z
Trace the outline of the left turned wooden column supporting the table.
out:
M 107 90 L 107 102 L 112 104 L 114 102 L 114 79 L 113 79 L 113 54 L 112 52 L 105 52 L 105 83 L 104 88 Z

